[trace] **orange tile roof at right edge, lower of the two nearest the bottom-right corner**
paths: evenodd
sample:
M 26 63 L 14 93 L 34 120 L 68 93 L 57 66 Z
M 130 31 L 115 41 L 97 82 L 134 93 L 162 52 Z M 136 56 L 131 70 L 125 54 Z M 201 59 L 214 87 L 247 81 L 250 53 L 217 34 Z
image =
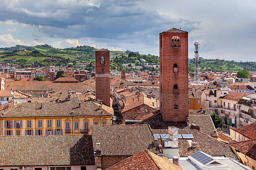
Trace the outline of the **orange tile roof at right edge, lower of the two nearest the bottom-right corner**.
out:
M 244 155 L 256 160 L 256 139 L 245 140 L 242 142 L 230 143 L 230 146 L 234 147 Z

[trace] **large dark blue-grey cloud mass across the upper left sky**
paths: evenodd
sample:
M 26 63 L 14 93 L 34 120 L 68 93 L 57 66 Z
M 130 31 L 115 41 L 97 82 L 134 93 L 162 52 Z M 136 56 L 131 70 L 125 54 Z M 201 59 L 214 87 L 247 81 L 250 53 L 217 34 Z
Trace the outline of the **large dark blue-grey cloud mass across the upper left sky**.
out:
M 135 0 L 15 0 L 2 2 L 0 20 L 40 25 L 49 37 L 107 38 L 152 43 L 152 37 L 173 26 L 191 31 L 199 22 L 160 15 Z M 37 37 L 38 38 L 38 37 Z

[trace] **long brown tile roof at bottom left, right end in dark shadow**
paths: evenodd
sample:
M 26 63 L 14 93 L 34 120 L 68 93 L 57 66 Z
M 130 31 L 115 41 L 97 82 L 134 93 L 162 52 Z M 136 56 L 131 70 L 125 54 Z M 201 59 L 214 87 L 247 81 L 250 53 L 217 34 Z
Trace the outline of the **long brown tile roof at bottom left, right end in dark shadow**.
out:
M 0 166 L 95 165 L 90 135 L 0 136 Z

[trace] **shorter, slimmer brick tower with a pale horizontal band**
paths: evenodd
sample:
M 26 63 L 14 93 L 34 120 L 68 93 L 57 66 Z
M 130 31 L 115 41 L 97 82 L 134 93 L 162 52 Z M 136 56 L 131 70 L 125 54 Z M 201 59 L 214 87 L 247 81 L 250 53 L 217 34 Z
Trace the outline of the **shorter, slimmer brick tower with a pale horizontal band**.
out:
M 96 99 L 110 106 L 110 51 L 95 51 Z

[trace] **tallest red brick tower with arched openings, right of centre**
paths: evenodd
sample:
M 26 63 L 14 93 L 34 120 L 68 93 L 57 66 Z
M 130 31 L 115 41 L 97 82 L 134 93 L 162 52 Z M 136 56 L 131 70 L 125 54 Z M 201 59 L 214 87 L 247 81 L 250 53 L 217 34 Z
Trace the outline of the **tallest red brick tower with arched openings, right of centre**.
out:
M 176 28 L 159 34 L 160 112 L 164 122 L 188 116 L 188 32 Z

